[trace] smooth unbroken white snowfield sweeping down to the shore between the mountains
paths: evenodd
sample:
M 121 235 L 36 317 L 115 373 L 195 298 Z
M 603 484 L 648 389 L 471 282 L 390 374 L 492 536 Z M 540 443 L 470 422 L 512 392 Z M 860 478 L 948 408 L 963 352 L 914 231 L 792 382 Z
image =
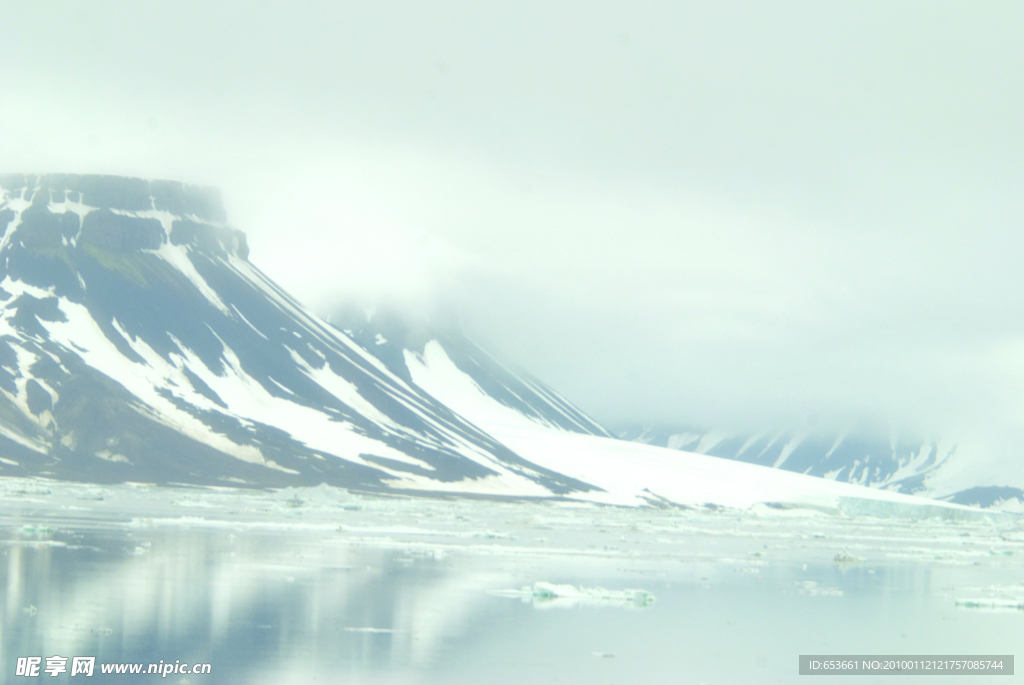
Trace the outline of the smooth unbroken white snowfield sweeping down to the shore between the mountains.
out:
M 543 426 L 488 396 L 436 341 L 423 354 L 406 352 L 413 381 L 474 425 L 538 466 L 603 491 L 574 493 L 590 502 L 638 506 L 673 503 L 748 509 L 758 503 L 835 511 L 896 513 L 904 507 L 975 511 L 897 493 L 836 482 L 769 467 Z M 934 513 L 934 511 L 933 511 Z M 940 514 L 941 515 L 941 514 Z

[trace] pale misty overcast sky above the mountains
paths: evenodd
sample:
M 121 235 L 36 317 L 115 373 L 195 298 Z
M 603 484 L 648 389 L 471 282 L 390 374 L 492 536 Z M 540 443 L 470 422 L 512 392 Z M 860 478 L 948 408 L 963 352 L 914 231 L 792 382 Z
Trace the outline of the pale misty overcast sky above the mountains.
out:
M 1024 435 L 1020 2 L 3 3 L 0 166 L 218 185 L 599 420 Z

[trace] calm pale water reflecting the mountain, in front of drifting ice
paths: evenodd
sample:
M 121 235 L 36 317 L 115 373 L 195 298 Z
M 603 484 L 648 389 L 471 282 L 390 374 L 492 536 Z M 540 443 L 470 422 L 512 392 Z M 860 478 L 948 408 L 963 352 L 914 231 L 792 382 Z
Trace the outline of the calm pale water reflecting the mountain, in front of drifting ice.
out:
M 506 519 L 515 511 L 502 510 Z M 964 596 L 1024 595 L 1009 548 L 979 551 L 983 563 L 949 556 L 963 530 L 919 531 L 948 544 L 926 541 L 914 557 L 860 552 L 840 562 L 831 547 L 815 554 L 820 541 L 785 524 L 772 537 L 734 536 L 729 549 L 714 526 L 679 539 L 652 533 L 647 548 L 660 541 L 675 552 L 647 554 L 613 545 L 552 550 L 543 536 L 510 544 L 494 530 L 464 544 L 424 542 L 423 519 L 406 519 L 413 524 L 391 520 L 375 536 L 187 518 L 8 520 L 0 531 L 3 677 L 75 683 L 67 673 L 16 677 L 16 659 L 89 655 L 96 673 L 85 682 L 829 682 L 799 677 L 798 655 L 993 654 L 1024 645 L 1024 612 L 956 606 Z M 541 527 L 559 534 L 557 525 Z M 780 543 L 805 538 L 806 548 Z M 885 549 L 912 547 L 898 538 Z M 545 583 L 577 591 L 535 593 Z M 100 663 L 160 660 L 210 663 L 211 673 L 99 673 Z

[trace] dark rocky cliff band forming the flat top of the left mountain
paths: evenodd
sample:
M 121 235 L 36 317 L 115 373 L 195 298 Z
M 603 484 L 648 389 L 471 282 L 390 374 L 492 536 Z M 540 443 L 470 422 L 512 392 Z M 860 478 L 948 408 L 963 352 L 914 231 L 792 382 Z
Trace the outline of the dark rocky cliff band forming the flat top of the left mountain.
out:
M 159 250 L 170 243 L 247 259 L 245 233 L 225 221 L 213 187 L 102 175 L 0 176 L 0 252 L 6 256 L 15 246 L 62 258 L 69 251 Z

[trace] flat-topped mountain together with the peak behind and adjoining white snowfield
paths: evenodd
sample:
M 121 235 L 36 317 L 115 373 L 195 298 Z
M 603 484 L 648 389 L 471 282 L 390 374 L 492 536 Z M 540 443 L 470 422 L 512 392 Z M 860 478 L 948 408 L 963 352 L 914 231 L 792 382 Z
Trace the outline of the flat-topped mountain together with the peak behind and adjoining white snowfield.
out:
M 916 500 L 614 439 L 464 339 L 318 318 L 210 188 L 0 177 L 0 475 L 835 507 Z

